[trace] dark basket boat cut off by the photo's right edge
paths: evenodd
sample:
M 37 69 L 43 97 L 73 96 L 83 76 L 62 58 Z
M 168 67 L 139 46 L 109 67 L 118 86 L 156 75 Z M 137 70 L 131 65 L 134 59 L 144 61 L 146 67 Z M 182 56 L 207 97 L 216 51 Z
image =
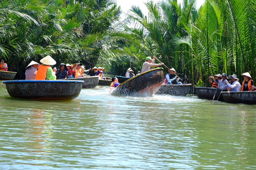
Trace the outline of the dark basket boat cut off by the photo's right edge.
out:
M 256 91 L 227 91 L 221 94 L 225 102 L 256 104 Z

